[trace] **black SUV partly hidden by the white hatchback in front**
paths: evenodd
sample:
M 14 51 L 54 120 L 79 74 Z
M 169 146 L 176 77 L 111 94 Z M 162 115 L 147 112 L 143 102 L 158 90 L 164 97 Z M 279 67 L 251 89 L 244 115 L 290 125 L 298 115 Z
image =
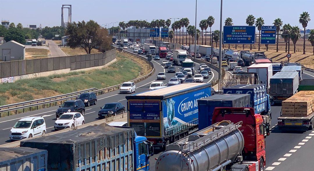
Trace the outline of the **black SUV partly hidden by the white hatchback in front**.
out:
M 84 116 L 85 114 L 85 104 L 82 100 L 67 100 L 62 103 L 61 106 L 56 111 L 56 118 L 59 118 L 63 113 L 68 112 L 79 112 Z

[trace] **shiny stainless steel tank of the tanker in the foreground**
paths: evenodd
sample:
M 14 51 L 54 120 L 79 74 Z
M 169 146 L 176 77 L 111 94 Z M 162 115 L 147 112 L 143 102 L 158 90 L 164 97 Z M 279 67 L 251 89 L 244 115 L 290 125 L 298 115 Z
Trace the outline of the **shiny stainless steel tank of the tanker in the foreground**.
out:
M 244 147 L 241 122 L 222 121 L 175 143 L 156 158 L 156 171 L 213 171 L 236 160 Z

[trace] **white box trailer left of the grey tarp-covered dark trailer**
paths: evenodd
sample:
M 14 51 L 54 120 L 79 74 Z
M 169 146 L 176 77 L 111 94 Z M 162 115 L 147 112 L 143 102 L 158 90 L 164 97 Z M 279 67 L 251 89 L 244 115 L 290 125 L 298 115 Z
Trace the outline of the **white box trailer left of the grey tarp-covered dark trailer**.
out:
M 273 76 L 273 64 L 272 63 L 257 63 L 247 67 L 247 72 L 257 73 L 258 78 L 267 87 L 267 93 L 270 88 L 270 78 Z

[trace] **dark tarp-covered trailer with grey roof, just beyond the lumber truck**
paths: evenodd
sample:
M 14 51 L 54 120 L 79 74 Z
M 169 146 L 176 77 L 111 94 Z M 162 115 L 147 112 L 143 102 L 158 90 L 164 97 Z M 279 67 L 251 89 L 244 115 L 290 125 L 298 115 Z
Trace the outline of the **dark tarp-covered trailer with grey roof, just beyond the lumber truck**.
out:
M 280 71 L 270 78 L 270 95 L 274 103 L 293 96 L 299 87 L 299 74 L 297 71 Z

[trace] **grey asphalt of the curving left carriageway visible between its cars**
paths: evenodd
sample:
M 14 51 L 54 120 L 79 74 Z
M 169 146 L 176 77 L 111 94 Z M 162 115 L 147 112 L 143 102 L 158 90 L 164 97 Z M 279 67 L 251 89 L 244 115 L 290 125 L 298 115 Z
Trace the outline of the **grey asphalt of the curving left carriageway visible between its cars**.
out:
M 128 49 L 127 51 L 133 52 L 133 50 Z M 144 56 L 144 55 L 143 55 Z M 155 72 L 154 74 L 139 82 L 136 83 L 136 93 L 148 91 L 149 85 L 151 82 L 154 82 L 156 79 L 156 75 L 159 72 L 166 72 L 167 69 L 164 69 L 164 67 L 161 65 L 161 61 L 153 61 L 154 66 L 155 66 Z M 199 64 L 196 63 L 196 69 L 198 69 Z M 180 71 L 180 66 L 177 66 L 177 71 Z M 199 72 L 199 70 L 197 70 Z M 167 82 L 170 78 L 174 77 L 174 73 L 166 73 L 167 79 L 166 80 L 158 80 L 158 81 L 163 81 L 165 85 L 167 85 Z M 213 74 L 209 76 L 208 79 L 204 79 L 204 83 L 210 82 L 218 77 L 218 73 L 213 70 Z M 134 93 L 133 93 L 134 94 Z M 127 101 L 125 99 L 126 95 L 130 94 L 119 94 L 119 91 L 113 91 L 110 93 L 102 94 L 97 96 L 98 102 L 97 105 L 92 105 L 90 107 L 86 107 L 85 111 L 85 123 L 90 123 L 93 121 L 96 121 L 98 119 L 98 111 L 100 110 L 100 107 L 102 107 L 105 103 L 111 103 L 111 102 L 120 102 L 123 105 L 126 106 Z M 36 111 L 31 111 L 31 112 L 25 112 L 25 113 L 20 113 L 17 115 L 11 115 L 8 117 L 3 117 L 0 118 L 0 144 L 8 143 L 11 142 L 8 138 L 9 131 L 10 129 L 14 126 L 14 124 L 23 117 L 27 116 L 43 116 L 45 121 L 46 121 L 46 130 L 47 133 L 54 131 L 54 122 L 56 121 L 55 117 L 55 111 L 57 110 L 58 106 L 56 107 L 50 107 L 50 108 L 44 108 Z

